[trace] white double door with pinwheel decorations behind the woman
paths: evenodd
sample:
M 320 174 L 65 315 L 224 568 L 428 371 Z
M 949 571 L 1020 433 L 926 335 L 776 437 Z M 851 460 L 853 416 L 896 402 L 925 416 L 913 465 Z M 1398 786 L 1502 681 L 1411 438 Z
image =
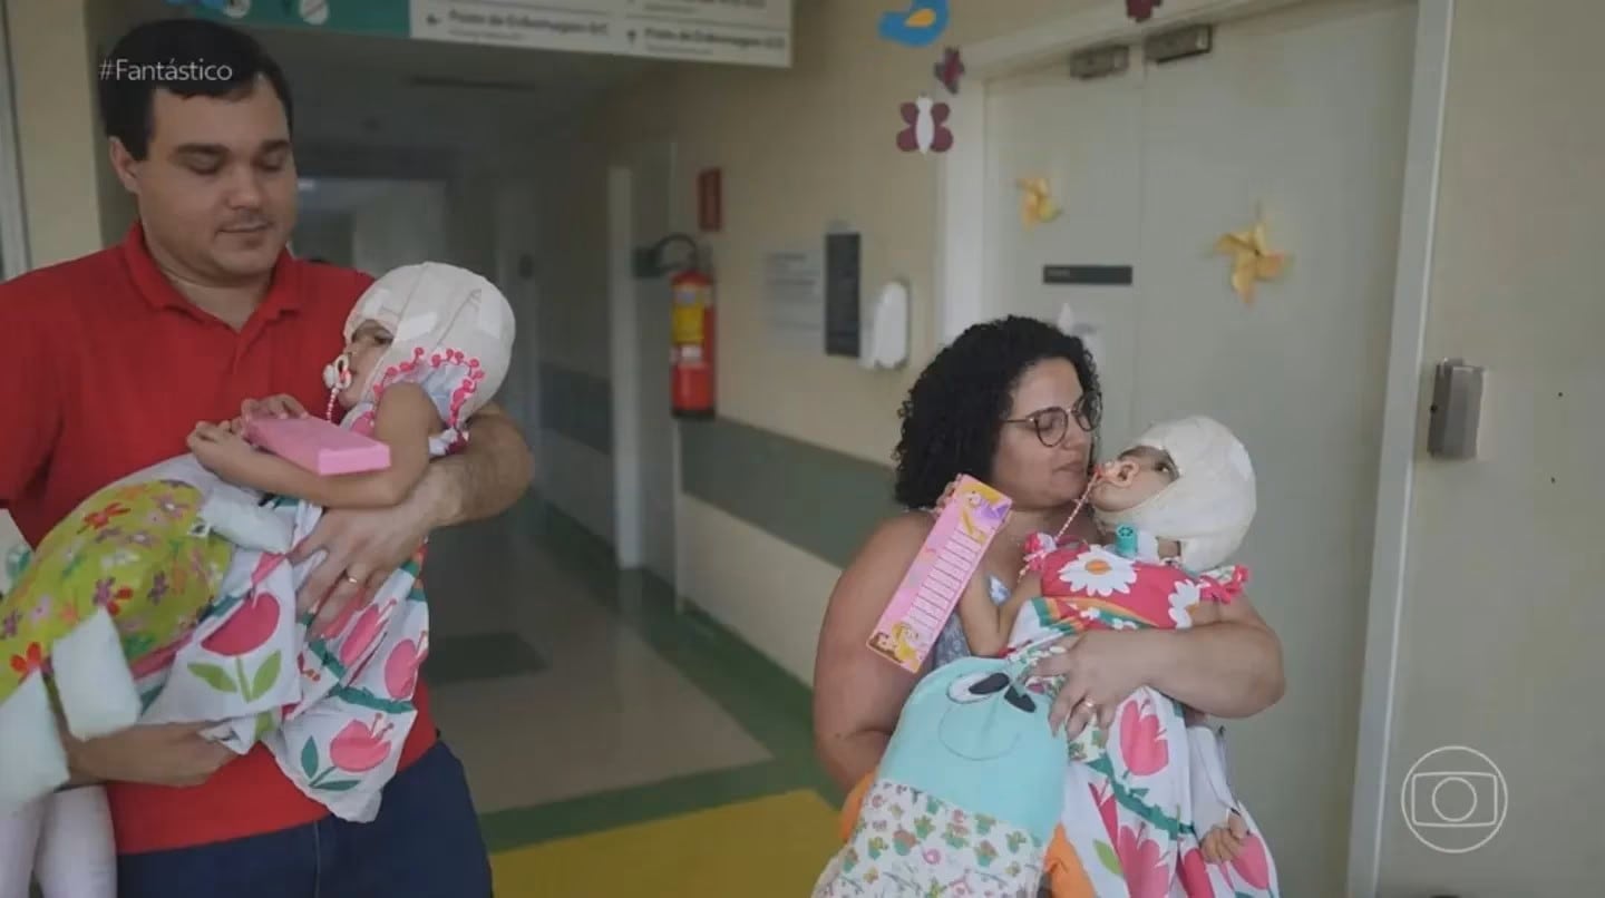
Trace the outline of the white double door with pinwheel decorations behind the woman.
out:
M 1347 860 L 1414 11 L 1339 0 L 1228 21 L 1207 56 L 1138 53 L 1090 83 L 1059 64 L 1058 90 L 987 109 L 1000 159 L 1035 154 L 1066 186 L 1064 220 L 1027 236 L 993 204 L 997 311 L 1051 321 L 1071 300 L 1106 327 L 1104 452 L 1209 414 L 1254 455 L 1239 561 L 1289 688 L 1228 741 L 1290 895 L 1337 895 Z M 1024 173 L 997 172 L 992 194 Z M 1258 208 L 1290 266 L 1250 306 L 1212 249 Z M 1064 263 L 1132 265 L 1133 285 L 1043 285 L 1043 265 Z

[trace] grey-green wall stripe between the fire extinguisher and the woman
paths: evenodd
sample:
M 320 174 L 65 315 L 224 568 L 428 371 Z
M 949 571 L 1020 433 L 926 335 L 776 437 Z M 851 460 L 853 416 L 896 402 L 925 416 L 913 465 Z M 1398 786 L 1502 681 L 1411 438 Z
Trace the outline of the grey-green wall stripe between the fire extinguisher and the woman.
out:
M 681 425 L 685 492 L 838 568 L 899 512 L 892 470 L 733 420 Z

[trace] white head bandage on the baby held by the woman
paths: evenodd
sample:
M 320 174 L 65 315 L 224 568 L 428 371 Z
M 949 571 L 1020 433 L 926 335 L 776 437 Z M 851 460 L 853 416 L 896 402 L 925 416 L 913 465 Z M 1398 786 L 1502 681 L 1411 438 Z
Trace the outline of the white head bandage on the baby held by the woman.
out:
M 1125 512 L 1099 513 L 1181 547 L 1181 564 L 1209 571 L 1242 545 L 1257 507 L 1249 451 L 1225 425 L 1202 415 L 1154 425 L 1133 446 L 1170 455 L 1176 479 Z

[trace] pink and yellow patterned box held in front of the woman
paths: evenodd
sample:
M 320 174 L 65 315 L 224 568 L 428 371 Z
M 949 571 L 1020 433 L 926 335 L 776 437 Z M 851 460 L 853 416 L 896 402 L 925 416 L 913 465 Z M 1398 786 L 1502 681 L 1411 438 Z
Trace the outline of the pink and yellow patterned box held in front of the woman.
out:
M 868 645 L 876 654 L 920 672 L 1011 507 L 997 489 L 971 476 L 958 478 L 931 536 L 875 624 Z

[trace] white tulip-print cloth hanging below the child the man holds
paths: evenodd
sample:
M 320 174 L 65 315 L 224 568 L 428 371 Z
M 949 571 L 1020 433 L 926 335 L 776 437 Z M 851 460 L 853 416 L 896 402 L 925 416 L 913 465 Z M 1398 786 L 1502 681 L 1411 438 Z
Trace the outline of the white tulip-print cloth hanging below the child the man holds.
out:
M 295 499 L 271 508 L 305 539 L 323 510 Z M 371 821 L 395 775 L 417 709 L 412 693 L 429 653 L 424 550 L 366 601 L 351 601 L 321 632 L 297 616 L 295 595 L 319 556 L 236 553 L 250 571 L 185 638 L 140 665 L 146 717 L 226 720 L 218 736 L 244 754 L 257 741 L 302 792 L 335 816 Z

